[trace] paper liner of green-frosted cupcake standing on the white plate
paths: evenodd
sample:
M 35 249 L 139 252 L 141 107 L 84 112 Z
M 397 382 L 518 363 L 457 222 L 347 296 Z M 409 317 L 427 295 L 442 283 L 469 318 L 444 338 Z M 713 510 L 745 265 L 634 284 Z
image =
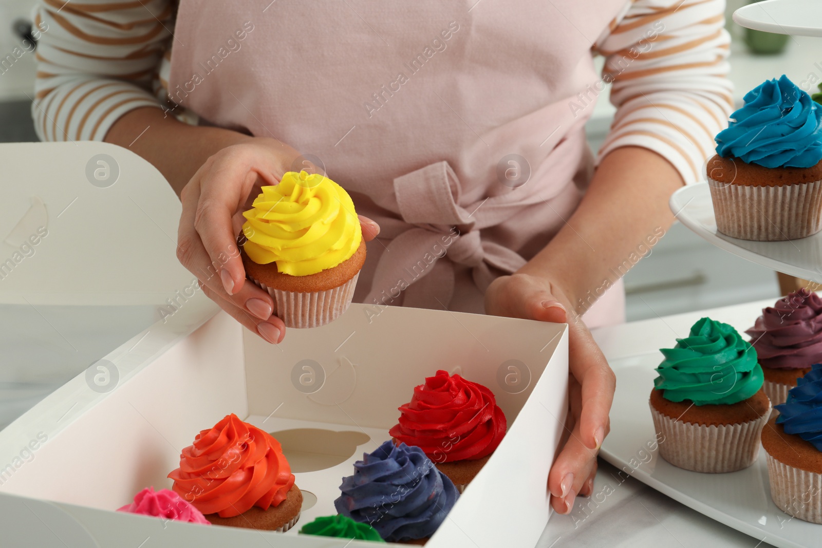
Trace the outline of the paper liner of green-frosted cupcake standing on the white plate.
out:
M 662 434 L 659 455 L 674 466 L 694 472 L 735 472 L 749 467 L 760 450 L 760 434 L 770 410 L 739 424 L 704 426 L 677 421 L 651 406 L 653 426 Z

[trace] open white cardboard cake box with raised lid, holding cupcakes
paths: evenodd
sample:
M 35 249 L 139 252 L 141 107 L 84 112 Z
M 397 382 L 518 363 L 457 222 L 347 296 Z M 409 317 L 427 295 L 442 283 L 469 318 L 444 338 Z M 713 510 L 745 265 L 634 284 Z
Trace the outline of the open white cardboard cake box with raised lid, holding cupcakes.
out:
M 86 180 L 86 163 L 101 153 L 118 163 L 109 187 Z M 0 155 L 7 176 L 29 181 L 0 189 L 0 236 L 42 223 L 38 200 L 51 223 L 39 259 L 16 266 L 28 274 L 0 283 L 0 303 L 160 306 L 158 296 L 191 283 L 168 242 L 179 203 L 134 154 L 68 143 L 0 145 Z M 72 216 L 55 217 L 72 196 Z M 542 534 L 566 418 L 566 325 L 354 304 L 272 346 L 201 292 L 178 302 L 0 431 L 2 546 L 373 546 L 298 529 L 336 513 L 342 477 L 390 439 L 397 408 L 437 369 L 492 389 L 508 431 L 427 546 L 533 546 Z M 304 492 L 296 527 L 258 532 L 113 511 L 146 486 L 170 487 L 181 449 L 229 413 L 283 444 Z

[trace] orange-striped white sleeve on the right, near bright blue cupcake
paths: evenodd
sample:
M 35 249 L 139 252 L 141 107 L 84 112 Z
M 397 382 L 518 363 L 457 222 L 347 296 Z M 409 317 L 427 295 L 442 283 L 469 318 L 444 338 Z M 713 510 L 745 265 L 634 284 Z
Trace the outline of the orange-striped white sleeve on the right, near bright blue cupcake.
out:
M 725 0 L 633 0 L 598 40 L 617 107 L 599 158 L 641 146 L 702 180 L 733 106 Z

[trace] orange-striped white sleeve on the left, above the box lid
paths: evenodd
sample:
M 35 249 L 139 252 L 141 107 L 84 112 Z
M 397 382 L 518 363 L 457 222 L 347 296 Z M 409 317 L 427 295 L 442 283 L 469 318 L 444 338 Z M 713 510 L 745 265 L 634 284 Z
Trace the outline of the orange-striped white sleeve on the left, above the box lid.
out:
M 34 21 L 40 140 L 103 140 L 123 114 L 160 107 L 152 91 L 172 37 L 172 0 L 39 0 Z

